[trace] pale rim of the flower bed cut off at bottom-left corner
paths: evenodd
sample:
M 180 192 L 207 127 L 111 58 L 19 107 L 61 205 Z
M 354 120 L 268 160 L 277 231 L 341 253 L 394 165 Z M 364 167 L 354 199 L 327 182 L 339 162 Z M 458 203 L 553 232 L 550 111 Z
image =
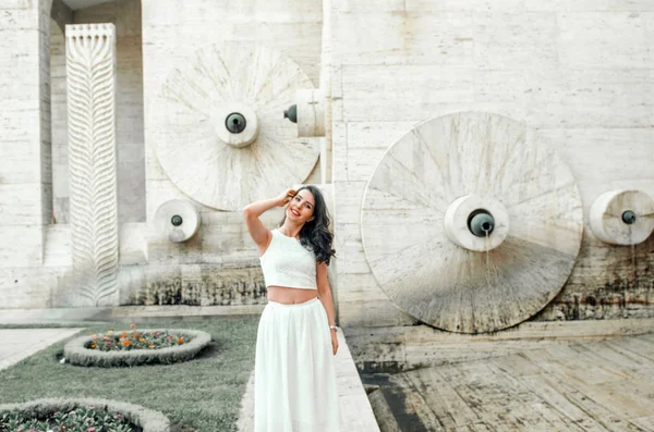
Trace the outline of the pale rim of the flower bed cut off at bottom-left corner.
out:
M 117 411 L 128 421 L 143 428 L 143 432 L 170 432 L 170 420 L 162 412 L 126 402 L 101 398 L 41 398 L 22 404 L 2 404 L 0 411 L 19 411 L 33 416 L 48 416 L 52 412 L 73 410 L 82 406 L 94 406 L 108 411 Z

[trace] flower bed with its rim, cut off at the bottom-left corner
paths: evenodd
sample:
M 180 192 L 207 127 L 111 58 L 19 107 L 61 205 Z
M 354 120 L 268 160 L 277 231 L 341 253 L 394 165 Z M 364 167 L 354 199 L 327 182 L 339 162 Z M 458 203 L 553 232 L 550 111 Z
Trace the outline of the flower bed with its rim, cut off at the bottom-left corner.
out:
M 0 405 L 0 432 L 169 432 L 164 414 L 108 399 L 47 398 Z

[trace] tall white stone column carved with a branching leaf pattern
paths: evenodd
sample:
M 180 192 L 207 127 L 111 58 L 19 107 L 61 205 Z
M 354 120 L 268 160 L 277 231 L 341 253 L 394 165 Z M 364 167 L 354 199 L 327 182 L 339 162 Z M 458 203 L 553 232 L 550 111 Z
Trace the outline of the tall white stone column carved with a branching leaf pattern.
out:
M 72 303 L 118 303 L 116 27 L 66 25 Z

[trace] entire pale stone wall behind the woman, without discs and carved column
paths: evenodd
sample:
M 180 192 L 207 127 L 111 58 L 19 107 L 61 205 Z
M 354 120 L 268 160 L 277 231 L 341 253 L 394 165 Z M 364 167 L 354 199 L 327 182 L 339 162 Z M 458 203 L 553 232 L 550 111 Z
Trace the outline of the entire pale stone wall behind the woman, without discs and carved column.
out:
M 240 212 L 198 205 L 159 165 L 154 133 L 165 115 L 154 101 L 198 47 L 228 40 L 282 51 L 318 86 L 322 8 L 300 0 L 143 0 L 142 7 L 116 0 L 75 11 L 75 23 L 112 22 L 118 30 L 121 304 L 264 301 L 256 248 Z M 9 0 L 0 11 L 7 100 L 0 107 L 0 307 L 57 306 L 70 267 L 63 40 L 50 30 L 48 0 Z M 644 0 L 332 0 L 340 323 L 415 323 L 371 273 L 360 220 L 377 161 L 424 120 L 477 110 L 524 122 L 536 140 L 562 152 L 586 218 L 607 189 L 654 195 L 653 29 L 654 4 Z M 44 61 L 50 32 L 52 158 Z M 318 174 L 306 183 L 317 183 Z M 157 208 L 174 198 L 190 200 L 202 217 L 199 233 L 184 244 L 161 242 L 152 224 Z M 272 226 L 281 217 L 275 209 L 263 219 Z M 654 238 L 633 249 L 600 243 L 586 219 L 570 280 L 533 320 L 652 317 L 653 252 Z

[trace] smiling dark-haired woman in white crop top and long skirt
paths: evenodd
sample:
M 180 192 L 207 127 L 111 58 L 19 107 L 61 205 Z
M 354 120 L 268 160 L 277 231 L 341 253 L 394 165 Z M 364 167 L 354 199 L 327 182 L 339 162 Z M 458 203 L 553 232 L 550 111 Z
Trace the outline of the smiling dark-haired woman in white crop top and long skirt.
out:
M 279 226 L 264 226 L 259 215 L 287 203 Z M 325 199 L 311 185 L 290 188 L 246 206 L 243 214 L 268 292 L 256 338 L 254 431 L 340 432 L 338 341 L 327 282 L 335 250 Z

